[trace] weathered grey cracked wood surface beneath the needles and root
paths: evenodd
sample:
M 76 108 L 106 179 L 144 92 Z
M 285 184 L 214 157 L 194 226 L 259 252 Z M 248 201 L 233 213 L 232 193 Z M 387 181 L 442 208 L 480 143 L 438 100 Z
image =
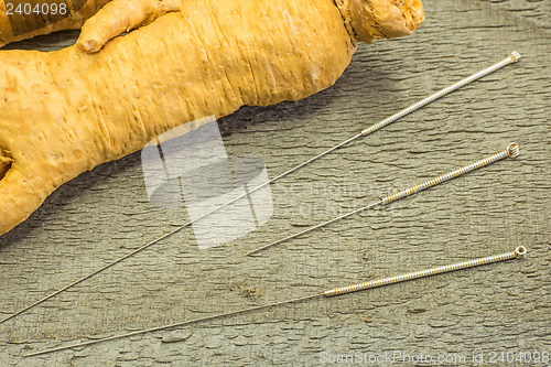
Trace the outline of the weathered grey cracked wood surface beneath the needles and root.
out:
M 272 185 L 258 230 L 199 250 L 188 228 L 0 325 L 13 366 L 296 365 L 321 353 L 467 356 L 549 352 L 551 53 L 544 0 L 425 0 L 410 37 L 361 45 L 337 84 L 299 102 L 242 108 L 219 127 L 229 156 L 270 176 L 430 93 L 505 58 L 525 58 Z M 9 47 L 55 50 L 77 32 Z M 487 156 L 521 155 L 335 223 L 256 258 L 259 245 Z M 184 224 L 148 199 L 140 154 L 62 186 L 0 237 L 0 316 Z M 75 341 L 244 309 L 328 288 L 505 252 L 528 257 L 40 357 Z M 370 321 L 370 322 L 366 322 Z M 407 360 L 406 360 L 406 364 Z M 383 364 L 381 364 L 383 365 Z

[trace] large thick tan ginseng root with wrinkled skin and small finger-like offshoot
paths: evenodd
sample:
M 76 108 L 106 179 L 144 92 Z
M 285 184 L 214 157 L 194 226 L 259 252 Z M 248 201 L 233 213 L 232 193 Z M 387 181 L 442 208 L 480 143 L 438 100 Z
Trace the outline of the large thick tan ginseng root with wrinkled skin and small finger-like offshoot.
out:
M 409 9 L 418 1 L 377 3 L 397 17 L 377 15 L 391 24 L 387 34 L 408 34 L 422 20 L 420 8 Z M 115 0 L 75 46 L 0 52 L 0 170 L 11 164 L 0 181 L 0 234 L 63 183 L 176 126 L 332 86 L 356 51 L 364 21 L 346 14 L 358 4 Z M 413 23 L 403 17 L 411 13 Z

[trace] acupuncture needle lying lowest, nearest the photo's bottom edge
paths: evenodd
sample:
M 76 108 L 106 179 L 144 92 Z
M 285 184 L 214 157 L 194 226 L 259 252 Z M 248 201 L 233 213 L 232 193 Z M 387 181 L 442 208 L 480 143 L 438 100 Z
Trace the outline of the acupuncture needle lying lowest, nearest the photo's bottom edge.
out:
M 214 316 L 206 316 L 206 317 L 201 317 L 201 319 L 195 319 L 195 320 L 188 320 L 188 321 L 184 321 L 184 322 L 180 322 L 180 323 L 175 323 L 175 324 L 169 324 L 169 325 L 163 325 L 163 326 L 158 326 L 158 327 L 152 327 L 152 328 L 147 328 L 147 330 L 141 330 L 141 331 L 136 331 L 136 332 L 131 332 L 131 333 L 127 333 L 127 334 L 109 336 L 109 337 L 94 339 L 94 341 L 89 341 L 89 342 L 85 342 L 85 343 L 77 343 L 77 344 L 61 346 L 61 347 L 56 347 L 56 348 L 52 348 L 52 349 L 46 349 L 46 350 L 26 354 L 23 357 L 37 356 L 37 355 L 48 354 L 48 353 L 58 352 L 58 350 L 65 350 L 65 349 L 75 348 L 75 347 L 87 346 L 87 345 L 91 345 L 91 344 L 98 344 L 98 343 L 114 341 L 114 339 L 120 339 L 123 337 L 129 337 L 129 336 L 145 334 L 145 333 L 152 333 L 152 332 L 159 332 L 159 331 L 163 331 L 163 330 L 168 330 L 168 328 L 186 326 L 186 325 L 191 325 L 191 324 L 195 324 L 195 323 L 199 323 L 199 322 L 204 322 L 204 321 L 222 319 L 225 316 L 242 314 L 242 313 L 251 312 L 251 311 L 259 311 L 259 310 L 273 307 L 273 306 L 278 306 L 278 305 L 282 305 L 282 304 L 298 303 L 298 302 L 302 302 L 302 301 L 306 301 L 306 300 L 311 300 L 311 299 L 316 299 L 316 298 L 322 298 L 322 296 L 331 298 L 331 296 L 336 296 L 336 295 L 348 294 L 348 293 L 364 291 L 364 290 L 383 287 L 383 285 L 388 285 L 388 284 L 400 283 L 400 282 L 404 282 L 408 280 L 431 277 L 431 276 L 435 276 L 435 274 L 452 272 L 452 271 L 456 271 L 456 270 L 461 270 L 461 269 L 479 267 L 483 265 L 500 262 L 500 261 L 506 261 L 506 260 L 510 260 L 510 259 L 523 259 L 526 257 L 526 253 L 527 253 L 526 248 L 523 246 L 519 246 L 515 249 L 515 251 L 510 251 L 510 252 L 488 256 L 485 258 L 478 258 L 478 259 L 474 259 L 474 260 L 457 262 L 457 263 L 437 267 L 437 268 L 432 268 L 432 269 L 425 269 L 425 270 L 410 272 L 410 273 L 406 273 L 406 274 L 401 274 L 401 276 L 370 280 L 370 281 L 367 281 L 364 283 L 359 283 L 359 284 L 339 287 L 339 288 L 335 288 L 332 290 L 327 290 L 323 293 L 305 295 L 305 296 L 301 296 L 301 298 L 296 298 L 296 299 L 292 299 L 292 300 L 269 303 L 269 304 L 255 306 L 255 307 L 250 307 L 250 309 L 245 309 L 245 310 L 239 310 L 239 311 L 220 313 L 220 314 L 214 315 Z

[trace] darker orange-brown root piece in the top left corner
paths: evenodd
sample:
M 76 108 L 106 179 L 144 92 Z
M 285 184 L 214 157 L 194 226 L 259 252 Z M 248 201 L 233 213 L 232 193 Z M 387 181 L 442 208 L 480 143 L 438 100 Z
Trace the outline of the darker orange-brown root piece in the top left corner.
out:
M 8 17 L 8 9 L 6 6 L 4 0 L 0 0 L 0 47 L 7 45 L 8 43 L 15 42 L 15 41 L 21 41 L 21 40 L 26 40 L 34 37 L 36 35 L 42 35 L 42 34 L 48 34 L 52 32 L 56 31 L 63 31 L 63 30 L 76 30 L 83 26 L 84 22 L 89 19 L 91 15 L 94 15 L 101 7 L 104 7 L 106 3 L 108 3 L 110 0 L 87 0 L 85 6 L 80 8 L 78 11 L 73 11 L 72 9 L 72 3 L 73 1 L 69 1 L 69 14 L 67 18 L 60 20 L 60 21 L 53 21 L 50 20 L 47 15 L 51 15 L 50 13 L 45 15 L 35 15 L 32 14 L 32 17 L 41 17 L 45 18 L 47 20 L 45 26 L 40 28 L 37 30 L 24 33 L 24 34 L 19 34 L 15 35 L 13 34 L 12 30 L 12 24 L 10 22 L 10 19 Z M 24 0 L 20 1 L 21 3 L 25 3 Z M 32 3 L 31 1 L 28 1 L 28 3 Z M 50 3 L 50 1 L 44 0 L 42 3 Z

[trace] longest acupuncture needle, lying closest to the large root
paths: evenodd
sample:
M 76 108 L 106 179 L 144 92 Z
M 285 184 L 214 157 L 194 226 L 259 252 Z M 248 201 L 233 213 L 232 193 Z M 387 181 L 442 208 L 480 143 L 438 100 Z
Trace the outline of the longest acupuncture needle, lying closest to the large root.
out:
M 424 99 L 422 99 L 422 100 L 420 100 L 420 101 L 418 101 L 418 102 L 415 102 L 415 104 L 413 104 L 413 105 L 411 105 L 411 106 L 402 109 L 401 111 L 399 111 L 399 112 L 397 112 L 397 114 L 395 114 L 395 115 L 392 115 L 392 116 L 390 116 L 390 117 L 381 120 L 380 122 L 371 125 L 370 127 L 368 127 L 367 129 L 365 129 L 361 132 L 357 133 L 356 136 L 354 136 L 354 137 L 352 137 L 352 138 L 343 141 L 343 142 L 336 144 L 335 147 L 333 147 L 333 148 L 324 151 L 323 153 L 320 153 L 320 154 L 317 154 L 317 155 L 309 159 L 307 161 L 304 161 L 303 163 L 301 163 L 299 165 L 295 165 L 294 168 L 292 168 L 292 169 L 290 169 L 290 170 L 281 173 L 280 175 L 278 175 L 278 176 L 276 176 L 276 177 L 273 177 L 273 179 L 271 179 L 271 180 L 269 180 L 269 181 L 267 181 L 267 182 L 264 182 L 264 183 L 262 183 L 262 184 L 260 184 L 260 185 L 258 185 L 258 186 L 249 190 L 248 192 L 244 193 L 242 195 L 239 195 L 239 196 L 230 199 L 229 202 L 227 202 L 227 203 L 225 203 L 225 204 L 223 204 L 223 205 L 220 205 L 220 206 L 218 206 L 218 207 L 216 207 L 216 208 L 214 208 L 214 209 L 212 209 L 212 211 L 209 211 L 209 212 L 201 215 L 199 217 L 197 217 L 197 218 L 195 218 L 193 220 L 190 220 L 190 222 L 185 223 L 182 226 L 179 226 L 179 227 L 174 228 L 173 230 L 171 230 L 171 231 L 162 235 L 161 237 L 159 237 L 159 238 L 156 238 L 156 239 L 154 239 L 154 240 L 152 240 L 152 241 L 150 241 L 150 242 L 148 242 L 148 244 L 139 247 L 139 248 L 137 248 L 136 250 L 133 250 L 133 251 L 131 251 L 131 252 L 129 252 L 129 253 L 120 257 L 119 259 L 114 260 L 114 261 L 105 265 L 104 267 L 101 267 L 101 268 L 99 268 L 99 269 L 97 269 L 97 270 L 95 270 L 95 271 L 93 271 L 93 272 L 90 272 L 90 273 L 88 273 L 88 274 L 79 278 L 78 280 L 76 280 L 76 281 L 74 281 L 74 282 L 72 282 L 72 283 L 69 283 L 69 284 L 67 284 L 67 285 L 58 289 L 57 291 L 55 291 L 55 292 L 53 292 L 53 293 L 51 293 L 51 294 L 42 298 L 41 300 L 39 300 L 39 301 L 36 301 L 36 302 L 34 302 L 34 303 L 32 303 L 32 304 L 30 304 L 30 305 L 28 305 L 28 306 L 19 310 L 19 311 L 10 314 L 9 316 L 0 320 L 0 324 L 2 324 L 4 322 L 7 322 L 8 320 L 11 320 L 11 319 L 13 319 L 13 317 L 15 317 L 15 316 L 24 313 L 24 312 L 26 312 L 26 311 L 29 311 L 29 310 L 37 306 L 39 304 L 41 304 L 41 303 L 43 303 L 43 302 L 45 302 L 45 301 L 47 301 L 47 300 L 56 296 L 57 294 L 63 293 L 66 290 L 68 290 L 71 288 L 73 288 L 73 287 L 75 287 L 75 285 L 77 285 L 77 284 L 79 284 L 79 283 L 82 283 L 82 282 L 84 282 L 84 281 L 86 281 L 86 280 L 88 280 L 88 279 L 90 279 L 90 278 L 93 278 L 93 277 L 95 277 L 95 276 L 104 272 L 105 270 L 107 270 L 107 269 L 116 266 L 117 263 L 120 263 L 120 262 L 125 261 L 126 259 L 134 256 L 136 253 L 141 252 L 141 251 L 150 248 L 151 246 L 160 242 L 161 240 L 163 240 L 163 239 L 165 239 L 168 237 L 171 237 L 172 235 L 181 231 L 182 229 L 184 229 L 184 228 L 186 228 L 186 227 L 188 227 L 188 226 L 197 223 L 198 220 L 205 218 L 206 216 L 208 216 L 208 215 L 210 215 L 210 214 L 213 214 L 215 212 L 218 212 L 219 209 L 223 209 L 226 206 L 228 206 L 230 204 L 234 204 L 235 202 L 237 202 L 237 201 L 239 201 L 239 199 L 241 199 L 244 197 L 249 196 L 251 193 L 253 193 L 253 192 L 256 192 L 256 191 L 258 191 L 258 190 L 260 190 L 262 187 L 266 187 L 267 185 L 270 185 L 270 184 L 274 183 L 276 181 L 279 181 L 279 180 L 281 180 L 281 179 L 290 175 L 291 173 L 293 173 L 293 172 L 295 172 L 295 171 L 304 168 L 305 165 L 307 165 L 307 164 L 310 164 L 310 163 L 312 163 L 312 162 L 321 159 L 322 156 L 325 156 L 325 155 L 329 154 L 331 152 L 337 150 L 338 148 L 353 142 L 354 140 L 356 140 L 358 138 L 367 137 L 368 134 L 374 133 L 375 131 L 382 129 L 387 125 L 390 125 L 390 123 L 399 120 L 400 118 L 402 118 L 402 117 L 404 117 L 407 115 L 410 115 L 411 112 L 413 112 L 413 111 L 415 111 L 415 110 L 418 110 L 418 109 L 420 109 L 420 108 L 422 108 L 422 107 L 424 107 L 424 106 L 426 106 L 426 105 L 435 101 L 436 99 L 440 99 L 440 98 L 442 98 L 442 97 L 451 94 L 454 90 L 457 90 L 457 89 L 466 86 L 467 84 L 471 84 L 471 83 L 473 83 L 473 82 L 475 82 L 475 80 L 477 80 L 477 79 L 479 79 L 479 78 L 482 78 L 482 77 L 484 77 L 484 76 L 486 76 L 488 74 L 491 74 L 491 73 L 494 73 L 494 72 L 496 72 L 496 71 L 498 71 L 498 69 L 500 69 L 500 68 L 503 68 L 503 67 L 505 67 L 507 65 L 516 63 L 520 58 L 521 58 L 521 55 L 518 52 L 516 52 L 516 51 L 511 52 L 511 54 L 509 56 L 507 56 L 505 60 L 500 61 L 499 63 L 496 63 L 496 64 L 494 64 L 494 65 L 491 65 L 491 66 L 489 66 L 489 67 L 487 67 L 487 68 L 485 68 L 485 69 L 483 69 L 483 71 L 480 71 L 478 73 L 475 73 L 475 74 L 473 74 L 471 76 L 467 76 L 466 78 L 464 78 L 464 79 L 462 79 L 462 80 L 460 80 L 460 82 L 457 82 L 457 83 L 455 83 L 455 84 L 453 84 L 453 85 L 451 85 L 451 86 L 449 86 L 449 87 L 446 87 L 444 89 L 441 89 L 440 91 L 436 91 L 435 94 L 433 94 L 433 95 L 431 95 L 431 96 L 429 96 L 429 97 L 426 97 L 426 98 L 424 98 Z

